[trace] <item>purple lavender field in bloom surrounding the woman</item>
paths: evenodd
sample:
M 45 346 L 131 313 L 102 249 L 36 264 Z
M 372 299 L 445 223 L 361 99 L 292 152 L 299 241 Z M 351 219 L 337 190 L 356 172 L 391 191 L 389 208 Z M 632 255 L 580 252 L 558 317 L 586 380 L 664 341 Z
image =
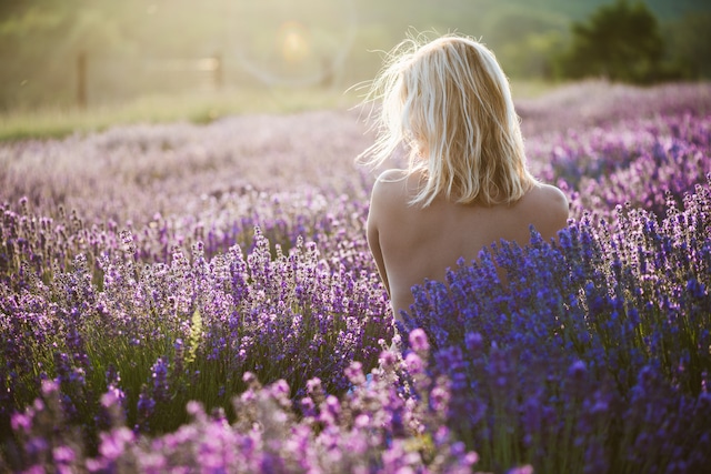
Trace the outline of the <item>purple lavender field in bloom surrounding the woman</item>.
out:
M 0 144 L 0 471 L 703 472 L 711 84 L 517 107 L 569 226 L 399 327 L 361 110 Z

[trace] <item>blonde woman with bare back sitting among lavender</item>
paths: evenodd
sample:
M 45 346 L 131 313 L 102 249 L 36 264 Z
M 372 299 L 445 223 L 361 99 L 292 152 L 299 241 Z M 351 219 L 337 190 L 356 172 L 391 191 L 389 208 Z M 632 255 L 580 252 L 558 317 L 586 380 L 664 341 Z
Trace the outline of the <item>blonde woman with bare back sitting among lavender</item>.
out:
M 447 34 L 408 39 L 390 53 L 369 100 L 381 101 L 378 137 L 361 159 L 381 165 L 395 150 L 407 169 L 373 185 L 368 242 L 395 317 L 411 288 L 501 239 L 525 245 L 567 225 L 569 204 L 525 167 L 509 82 L 480 42 Z

